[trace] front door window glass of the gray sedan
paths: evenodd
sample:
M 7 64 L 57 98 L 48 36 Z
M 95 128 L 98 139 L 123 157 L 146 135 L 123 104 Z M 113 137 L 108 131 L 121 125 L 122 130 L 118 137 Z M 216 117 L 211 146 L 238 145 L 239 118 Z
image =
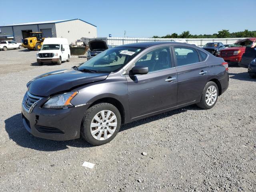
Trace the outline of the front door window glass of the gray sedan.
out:
M 148 72 L 171 68 L 170 48 L 160 48 L 143 55 L 135 66 L 148 67 Z

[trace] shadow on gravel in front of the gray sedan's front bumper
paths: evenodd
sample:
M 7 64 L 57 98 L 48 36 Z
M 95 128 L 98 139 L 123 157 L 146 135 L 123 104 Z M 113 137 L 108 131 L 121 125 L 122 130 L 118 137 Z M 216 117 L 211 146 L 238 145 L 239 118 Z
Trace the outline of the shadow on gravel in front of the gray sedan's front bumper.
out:
M 5 130 L 9 138 L 16 142 L 19 146 L 30 148 L 39 151 L 59 151 L 71 147 L 93 147 L 82 139 L 75 139 L 70 141 L 53 141 L 32 136 L 24 128 L 21 114 L 16 114 L 5 121 Z

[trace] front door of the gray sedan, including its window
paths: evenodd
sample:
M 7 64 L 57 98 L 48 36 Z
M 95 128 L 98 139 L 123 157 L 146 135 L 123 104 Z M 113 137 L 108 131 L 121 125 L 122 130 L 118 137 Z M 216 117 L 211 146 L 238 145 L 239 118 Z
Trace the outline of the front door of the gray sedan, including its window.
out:
M 150 50 L 132 64 L 148 67 L 148 74 L 126 75 L 130 117 L 135 118 L 177 104 L 177 71 L 170 47 Z

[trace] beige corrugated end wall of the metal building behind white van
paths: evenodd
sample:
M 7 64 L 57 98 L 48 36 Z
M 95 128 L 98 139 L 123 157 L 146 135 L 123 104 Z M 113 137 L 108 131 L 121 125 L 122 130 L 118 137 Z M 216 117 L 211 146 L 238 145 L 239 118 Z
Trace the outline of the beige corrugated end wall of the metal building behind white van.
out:
M 76 42 L 82 37 L 97 37 L 97 28 L 80 20 L 56 23 L 56 37 L 67 38 L 68 43 Z

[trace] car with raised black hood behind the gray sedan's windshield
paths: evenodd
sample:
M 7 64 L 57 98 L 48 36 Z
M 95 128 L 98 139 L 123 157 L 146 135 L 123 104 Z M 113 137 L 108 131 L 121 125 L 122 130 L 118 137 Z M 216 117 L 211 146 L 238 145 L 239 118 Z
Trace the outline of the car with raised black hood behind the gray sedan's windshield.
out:
M 93 58 L 94 56 L 109 48 L 112 48 L 112 46 L 107 45 L 106 41 L 104 40 L 92 40 L 88 42 L 88 44 L 90 50 L 88 50 L 87 52 L 87 60 Z

